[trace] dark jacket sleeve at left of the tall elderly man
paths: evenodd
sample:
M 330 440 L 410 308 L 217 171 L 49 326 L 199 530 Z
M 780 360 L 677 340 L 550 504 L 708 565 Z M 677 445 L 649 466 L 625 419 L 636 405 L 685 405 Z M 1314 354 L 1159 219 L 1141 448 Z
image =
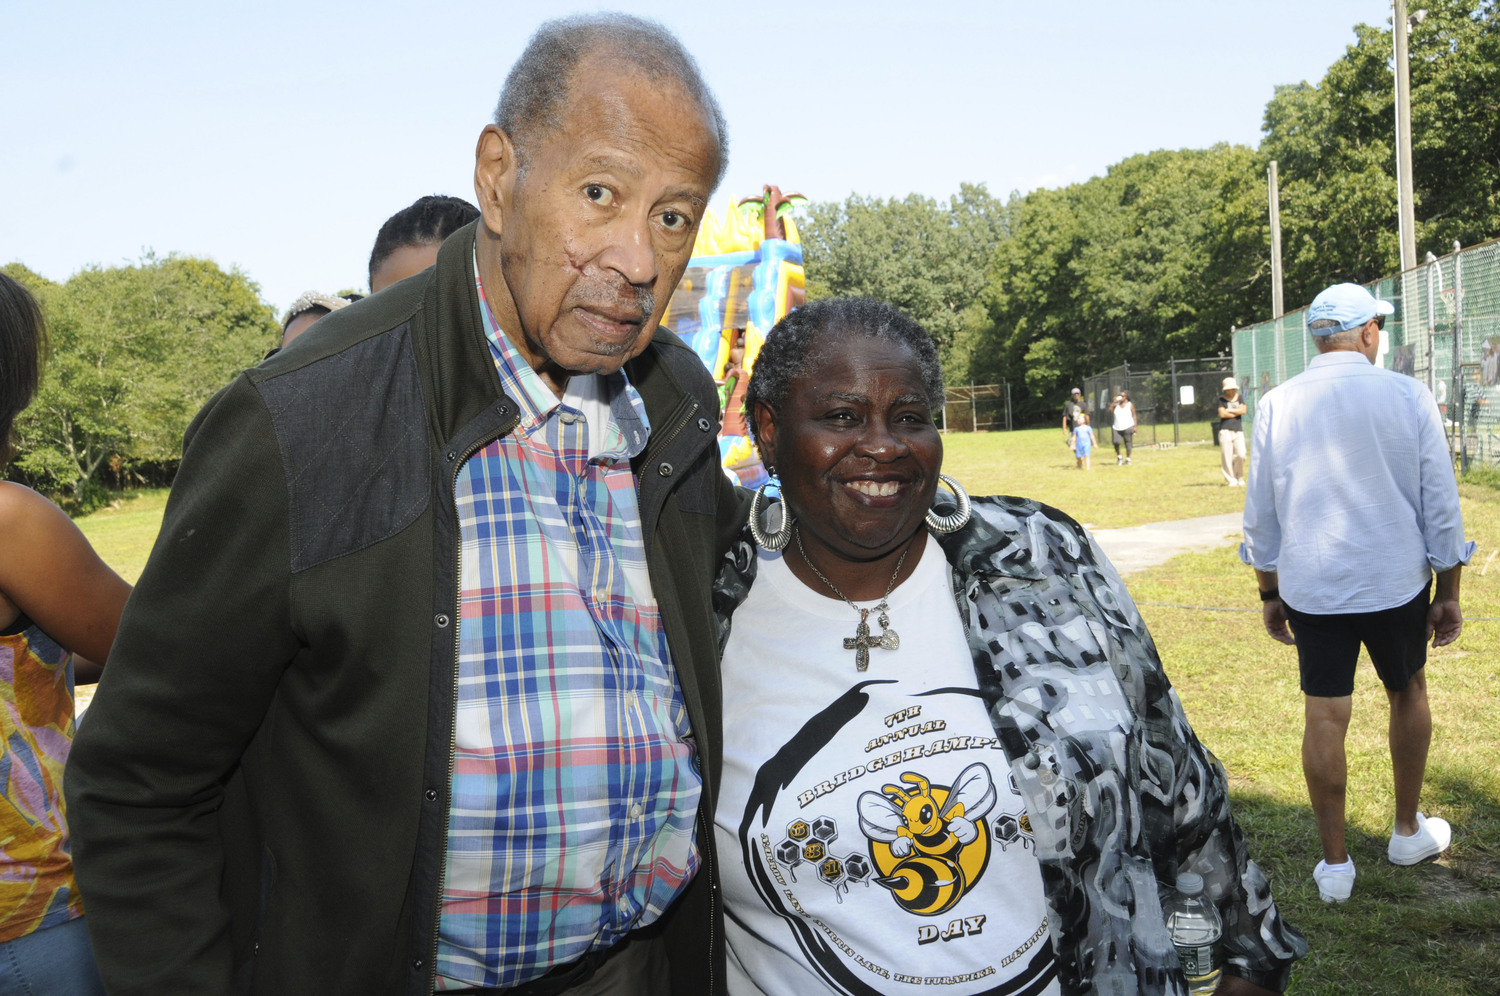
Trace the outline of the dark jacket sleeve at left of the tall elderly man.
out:
M 297 650 L 285 495 L 268 414 L 242 375 L 188 429 L 68 764 L 78 884 L 117 996 L 231 990 L 218 812 Z

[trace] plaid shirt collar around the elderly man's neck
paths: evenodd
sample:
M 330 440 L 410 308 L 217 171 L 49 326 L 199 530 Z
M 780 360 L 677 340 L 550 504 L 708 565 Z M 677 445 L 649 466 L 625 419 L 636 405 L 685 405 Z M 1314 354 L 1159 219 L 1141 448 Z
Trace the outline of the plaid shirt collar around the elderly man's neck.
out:
M 489 308 L 484 282 L 478 273 L 478 249 L 474 249 L 474 291 L 484 318 L 484 339 L 489 342 L 495 369 L 506 393 L 520 405 L 516 432 L 530 436 L 548 420 L 560 416 L 582 416 L 588 424 L 588 454 L 596 462 L 628 460 L 646 447 L 651 422 L 645 400 L 621 369 L 602 376 L 579 374 L 568 378 L 562 398 L 552 393 L 510 340 Z

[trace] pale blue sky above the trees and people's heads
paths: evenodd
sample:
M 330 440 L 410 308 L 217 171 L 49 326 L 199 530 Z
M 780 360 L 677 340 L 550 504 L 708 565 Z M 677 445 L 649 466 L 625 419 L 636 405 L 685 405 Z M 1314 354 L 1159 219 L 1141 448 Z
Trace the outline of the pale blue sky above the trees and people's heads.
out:
M 472 200 L 474 140 L 532 0 L 0 6 L 0 262 L 63 280 L 146 249 L 238 266 L 284 309 L 363 286 L 380 224 Z M 730 128 L 714 198 L 1060 186 L 1154 148 L 1257 144 L 1382 0 L 624 2 L 699 58 Z

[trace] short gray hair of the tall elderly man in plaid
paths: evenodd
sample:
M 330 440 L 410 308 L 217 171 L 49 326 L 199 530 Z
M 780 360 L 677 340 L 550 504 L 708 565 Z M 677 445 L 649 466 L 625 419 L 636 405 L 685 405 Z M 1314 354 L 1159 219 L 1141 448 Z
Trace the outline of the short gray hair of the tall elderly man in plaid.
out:
M 630 14 L 576 14 L 537 28 L 510 68 L 495 106 L 495 124 L 510 135 L 516 165 L 526 171 L 526 148 L 538 132 L 562 128 L 562 108 L 573 92 L 573 76 L 585 56 L 606 50 L 651 82 L 670 80 L 708 111 L 718 138 L 714 188 L 729 168 L 729 129 L 714 92 L 704 82 L 698 62 L 672 32 Z

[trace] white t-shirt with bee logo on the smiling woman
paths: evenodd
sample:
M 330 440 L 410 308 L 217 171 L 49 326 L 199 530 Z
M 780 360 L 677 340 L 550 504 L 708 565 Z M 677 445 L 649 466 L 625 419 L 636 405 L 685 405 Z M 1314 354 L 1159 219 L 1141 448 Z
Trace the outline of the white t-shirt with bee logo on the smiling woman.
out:
M 730 996 L 1056 996 L 1030 822 L 942 548 L 891 592 L 900 648 L 864 674 L 854 609 L 759 556 L 723 662 Z

